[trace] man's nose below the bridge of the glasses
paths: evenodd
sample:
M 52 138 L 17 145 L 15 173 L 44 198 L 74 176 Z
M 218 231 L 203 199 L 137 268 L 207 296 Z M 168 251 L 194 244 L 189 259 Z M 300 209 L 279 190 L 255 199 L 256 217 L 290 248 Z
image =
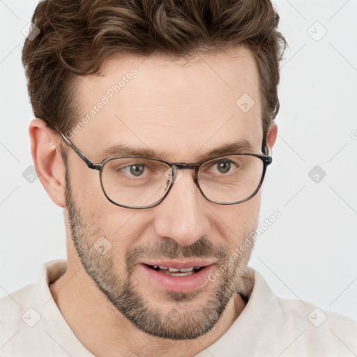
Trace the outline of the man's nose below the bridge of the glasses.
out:
M 209 235 L 211 203 L 199 192 L 192 170 L 181 172 L 183 176 L 176 179 L 167 197 L 155 207 L 155 232 L 161 238 L 171 238 L 185 246 Z

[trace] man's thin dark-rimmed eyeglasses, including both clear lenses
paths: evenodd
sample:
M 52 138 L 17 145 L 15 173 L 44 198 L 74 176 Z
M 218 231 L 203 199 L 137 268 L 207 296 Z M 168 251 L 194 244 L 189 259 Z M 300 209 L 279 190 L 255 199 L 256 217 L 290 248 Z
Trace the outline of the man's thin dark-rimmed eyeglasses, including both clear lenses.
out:
M 181 169 L 195 170 L 193 181 L 209 202 L 240 204 L 257 194 L 266 167 L 273 161 L 264 154 L 232 153 L 207 158 L 197 164 L 139 156 L 113 156 L 94 163 L 62 132 L 59 133 L 89 169 L 99 171 L 107 199 L 126 208 L 151 208 L 160 204 L 172 185 L 181 179 Z

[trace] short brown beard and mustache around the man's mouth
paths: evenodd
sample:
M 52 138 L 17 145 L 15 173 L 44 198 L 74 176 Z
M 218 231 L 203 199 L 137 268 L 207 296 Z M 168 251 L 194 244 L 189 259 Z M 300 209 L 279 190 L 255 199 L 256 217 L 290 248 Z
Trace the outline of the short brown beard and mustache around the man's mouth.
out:
M 213 245 L 206 237 L 201 237 L 192 245 L 185 247 L 174 243 L 173 240 L 159 239 L 157 244 L 151 244 L 150 247 L 128 249 L 124 262 L 118 261 L 111 250 L 105 255 L 100 255 L 93 248 L 100 227 L 89 224 L 95 220 L 86 219 L 79 205 L 75 203 L 66 160 L 65 166 L 66 208 L 71 238 L 86 273 L 96 283 L 98 289 L 132 324 L 150 335 L 171 340 L 190 340 L 211 331 L 222 316 L 230 298 L 238 292 L 240 277 L 248 264 L 253 244 L 228 267 L 225 266 L 225 262 L 231 257 L 231 252 L 223 245 Z M 215 257 L 218 259 L 217 265 L 225 268 L 222 269 L 222 274 L 215 284 L 208 283 L 212 285 L 212 289 L 205 303 L 195 302 L 199 292 L 166 291 L 167 298 L 173 302 L 174 307 L 165 314 L 162 309 L 154 308 L 135 289 L 136 280 L 133 275 L 135 266 L 143 258 L 148 257 L 151 259 Z M 118 264 L 124 265 L 123 276 L 116 273 L 115 266 Z M 185 306 L 190 307 L 190 310 L 188 311 Z

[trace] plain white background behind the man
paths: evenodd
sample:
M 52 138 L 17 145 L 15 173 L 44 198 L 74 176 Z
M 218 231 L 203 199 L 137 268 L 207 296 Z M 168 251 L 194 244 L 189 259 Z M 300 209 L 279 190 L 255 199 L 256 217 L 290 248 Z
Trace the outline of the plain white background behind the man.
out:
M 33 165 L 33 114 L 21 31 L 37 2 L 0 1 L 0 296 L 35 282 L 45 261 L 66 258 L 61 208 L 22 176 Z M 274 4 L 289 48 L 261 222 L 275 210 L 281 217 L 259 236 L 250 265 L 278 296 L 357 320 L 357 1 Z M 319 183 L 308 176 L 315 165 L 326 172 Z

